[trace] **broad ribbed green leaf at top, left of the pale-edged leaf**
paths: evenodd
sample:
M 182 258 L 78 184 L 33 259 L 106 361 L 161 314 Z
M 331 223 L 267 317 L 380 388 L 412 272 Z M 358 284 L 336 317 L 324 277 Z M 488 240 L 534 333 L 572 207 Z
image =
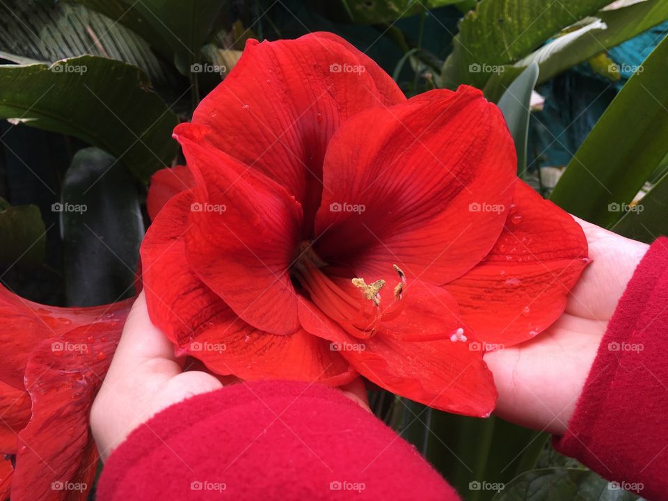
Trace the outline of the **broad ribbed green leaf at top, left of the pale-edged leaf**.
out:
M 484 87 L 502 65 L 523 58 L 548 38 L 610 0 L 481 0 L 463 17 L 452 54 L 443 65 L 443 86 Z

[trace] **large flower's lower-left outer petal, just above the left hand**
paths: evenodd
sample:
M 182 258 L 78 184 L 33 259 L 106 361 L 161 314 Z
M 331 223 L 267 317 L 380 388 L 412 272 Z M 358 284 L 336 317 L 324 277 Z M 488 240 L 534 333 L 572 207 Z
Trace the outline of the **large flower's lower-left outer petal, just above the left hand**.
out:
M 292 335 L 258 331 L 189 271 L 182 233 L 191 200 L 189 192 L 170 200 L 141 246 L 151 321 L 181 353 L 202 360 L 216 374 L 331 385 L 351 381 L 355 372 L 339 353 L 329 350 L 328 342 L 301 328 Z

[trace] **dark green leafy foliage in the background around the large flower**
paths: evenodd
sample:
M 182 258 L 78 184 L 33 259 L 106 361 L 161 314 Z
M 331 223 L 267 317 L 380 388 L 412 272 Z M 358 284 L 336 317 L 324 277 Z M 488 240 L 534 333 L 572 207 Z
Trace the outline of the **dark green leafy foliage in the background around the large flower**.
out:
M 0 13 L 0 280 L 33 301 L 132 296 L 148 180 L 182 161 L 173 127 L 248 38 L 310 31 L 347 38 L 408 96 L 483 88 L 543 196 L 642 241 L 667 232 L 665 0 L 5 0 Z M 635 499 L 544 434 L 381 390 L 371 402 L 467 500 Z

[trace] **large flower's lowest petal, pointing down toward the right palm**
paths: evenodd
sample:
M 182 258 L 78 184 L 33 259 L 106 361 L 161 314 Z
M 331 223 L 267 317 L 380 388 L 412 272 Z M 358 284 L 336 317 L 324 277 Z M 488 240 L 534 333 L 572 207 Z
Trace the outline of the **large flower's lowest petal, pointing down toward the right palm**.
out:
M 486 417 L 494 408 L 492 374 L 470 339 L 406 342 L 379 334 L 358 340 L 306 301 L 299 315 L 309 332 L 329 337 L 360 374 L 386 390 L 452 413 Z

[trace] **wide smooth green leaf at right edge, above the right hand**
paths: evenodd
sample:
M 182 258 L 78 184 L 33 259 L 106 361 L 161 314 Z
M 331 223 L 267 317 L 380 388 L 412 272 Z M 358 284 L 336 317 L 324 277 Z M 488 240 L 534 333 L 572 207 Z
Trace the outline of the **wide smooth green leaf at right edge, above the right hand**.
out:
M 550 199 L 604 227 L 668 153 L 668 38 L 656 47 L 596 122 Z M 583 196 L 586 193 L 586 196 Z

